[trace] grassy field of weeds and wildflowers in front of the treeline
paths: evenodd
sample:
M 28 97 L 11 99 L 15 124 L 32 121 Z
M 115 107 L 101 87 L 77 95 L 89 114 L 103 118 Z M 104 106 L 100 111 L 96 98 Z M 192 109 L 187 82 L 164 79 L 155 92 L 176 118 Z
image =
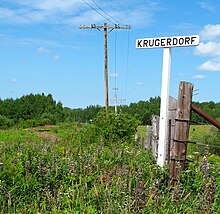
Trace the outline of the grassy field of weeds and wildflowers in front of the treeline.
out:
M 219 213 L 218 155 L 195 159 L 171 191 L 150 152 L 97 136 L 76 124 L 0 131 L 0 213 Z

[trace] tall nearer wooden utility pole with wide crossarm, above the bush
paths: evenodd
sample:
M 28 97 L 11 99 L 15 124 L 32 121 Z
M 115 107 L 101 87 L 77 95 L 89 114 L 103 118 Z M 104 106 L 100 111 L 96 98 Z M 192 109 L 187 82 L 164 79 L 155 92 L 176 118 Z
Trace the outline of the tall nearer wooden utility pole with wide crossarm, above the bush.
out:
M 105 80 L 105 108 L 108 111 L 109 106 L 109 98 L 108 98 L 108 34 L 114 29 L 131 29 L 130 25 L 120 26 L 115 24 L 114 26 L 109 26 L 107 23 L 104 25 L 95 25 L 92 24 L 90 26 L 80 25 L 80 29 L 97 29 L 101 31 L 103 29 L 104 32 L 104 80 Z M 108 31 L 109 30 L 109 31 Z

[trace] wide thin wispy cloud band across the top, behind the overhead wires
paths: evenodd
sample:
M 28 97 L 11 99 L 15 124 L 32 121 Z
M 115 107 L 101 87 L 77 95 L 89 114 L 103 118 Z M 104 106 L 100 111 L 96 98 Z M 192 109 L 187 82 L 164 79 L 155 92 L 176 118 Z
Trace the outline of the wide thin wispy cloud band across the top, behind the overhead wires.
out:
M 91 0 L 86 0 L 103 16 L 92 10 L 82 0 L 1 0 L 0 23 L 10 24 L 84 24 L 84 22 L 103 22 L 103 13 Z M 6 2 L 6 3 L 4 3 Z M 123 24 L 146 26 L 152 23 L 154 12 L 161 10 L 157 3 L 124 1 L 100 1 L 106 13 Z M 85 24 L 86 24 L 85 23 Z

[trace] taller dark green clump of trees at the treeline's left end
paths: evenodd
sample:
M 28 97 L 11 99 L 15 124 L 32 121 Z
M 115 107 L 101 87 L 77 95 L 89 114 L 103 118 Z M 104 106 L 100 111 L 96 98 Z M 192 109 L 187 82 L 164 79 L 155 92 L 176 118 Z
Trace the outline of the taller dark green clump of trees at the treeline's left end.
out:
M 35 126 L 34 121 L 37 123 L 37 121 L 41 119 L 49 119 L 51 121 L 50 123 L 53 124 L 64 121 L 62 103 L 56 103 L 51 94 L 48 96 L 44 94 L 30 94 L 15 100 L 0 100 L 0 115 L 4 115 L 4 118 L 0 118 L 0 121 L 4 119 L 4 124 L 6 124 L 6 126 L 12 121 L 14 123 L 13 125 L 21 121 L 28 121 L 26 123 L 27 126 L 31 125 L 31 123 Z M 6 118 L 11 121 L 6 121 Z M 24 124 L 24 126 L 26 126 L 26 124 Z M 3 127 L 2 123 L 0 127 Z

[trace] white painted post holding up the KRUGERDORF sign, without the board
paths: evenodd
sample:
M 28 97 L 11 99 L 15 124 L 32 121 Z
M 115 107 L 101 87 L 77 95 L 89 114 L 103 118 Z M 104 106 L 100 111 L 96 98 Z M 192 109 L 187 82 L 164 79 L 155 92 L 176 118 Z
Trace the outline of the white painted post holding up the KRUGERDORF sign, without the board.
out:
M 170 64 L 171 48 L 163 49 L 163 69 L 161 86 L 161 104 L 160 104 L 160 124 L 159 124 L 159 144 L 157 164 L 164 166 L 166 159 L 167 146 L 167 123 L 168 123 L 168 105 L 170 93 Z

